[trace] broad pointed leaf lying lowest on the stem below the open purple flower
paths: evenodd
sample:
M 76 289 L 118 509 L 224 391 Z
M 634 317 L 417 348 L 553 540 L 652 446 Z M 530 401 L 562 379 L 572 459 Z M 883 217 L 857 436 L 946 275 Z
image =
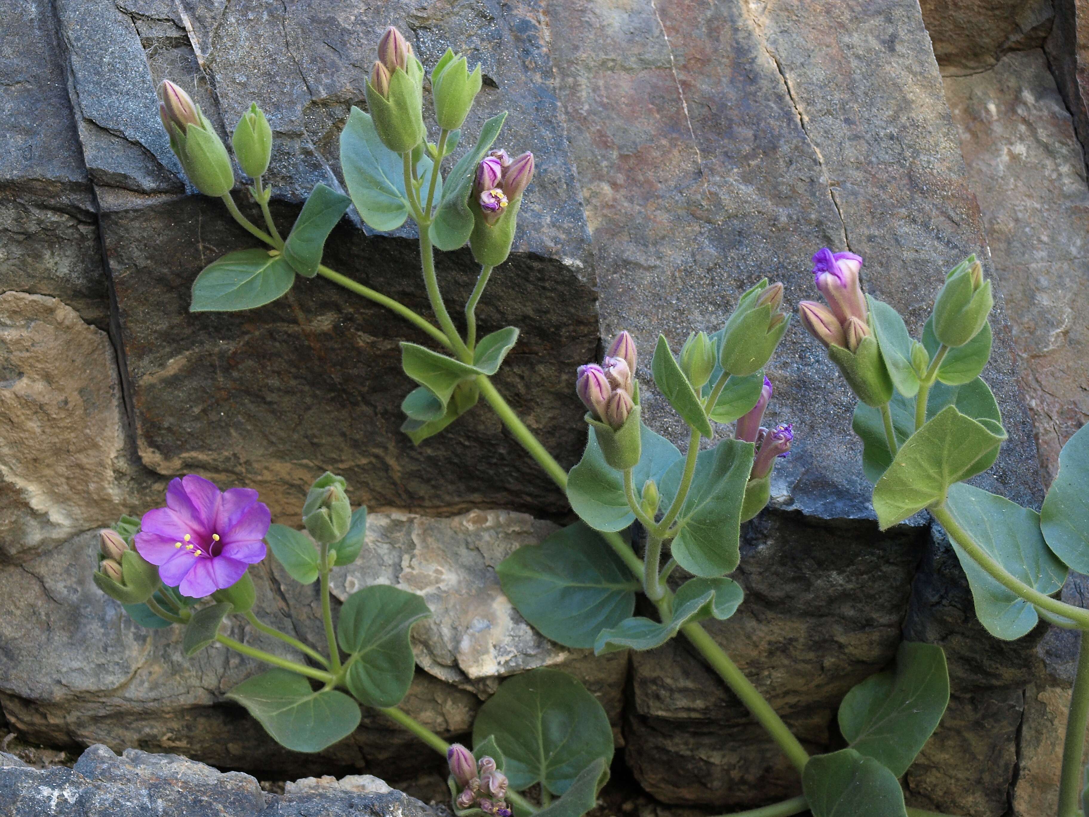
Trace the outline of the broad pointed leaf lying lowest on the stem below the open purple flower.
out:
M 359 705 L 342 692 L 315 692 L 302 675 L 269 670 L 227 697 L 246 707 L 272 739 L 293 752 L 320 752 L 359 725 Z

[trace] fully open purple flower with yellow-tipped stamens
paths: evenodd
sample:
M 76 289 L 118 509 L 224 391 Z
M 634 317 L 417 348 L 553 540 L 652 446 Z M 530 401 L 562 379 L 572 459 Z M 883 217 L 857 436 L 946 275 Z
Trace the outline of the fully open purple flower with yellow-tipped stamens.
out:
M 203 598 L 230 587 L 265 558 L 272 516 L 253 488 L 221 491 L 189 474 L 167 486 L 167 507 L 144 514 L 137 552 L 183 596 Z

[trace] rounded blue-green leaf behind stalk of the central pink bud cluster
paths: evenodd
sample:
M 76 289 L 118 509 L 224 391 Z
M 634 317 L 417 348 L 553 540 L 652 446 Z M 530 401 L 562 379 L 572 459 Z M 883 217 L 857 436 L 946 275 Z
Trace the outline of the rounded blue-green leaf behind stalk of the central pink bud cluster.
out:
M 681 459 L 676 446 L 661 435 L 640 426 L 643 455 L 632 470 L 636 490 L 648 479 L 661 484 L 666 470 Z M 635 521 L 624 495 L 624 477 L 605 462 L 597 435 L 590 431 L 583 459 L 567 477 L 567 501 L 595 531 L 623 531 Z

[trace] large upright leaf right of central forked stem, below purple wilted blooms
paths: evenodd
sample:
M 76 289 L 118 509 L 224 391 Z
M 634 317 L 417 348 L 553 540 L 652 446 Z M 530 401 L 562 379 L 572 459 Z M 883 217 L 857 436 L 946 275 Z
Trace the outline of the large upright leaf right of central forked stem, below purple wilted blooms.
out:
M 741 561 L 742 503 L 752 470 L 751 442 L 722 440 L 696 456 L 692 488 L 681 507 L 681 532 L 670 546 L 677 564 L 689 573 L 713 578 L 730 573 Z M 659 489 L 668 508 L 680 487 L 684 463 L 677 460 Z

